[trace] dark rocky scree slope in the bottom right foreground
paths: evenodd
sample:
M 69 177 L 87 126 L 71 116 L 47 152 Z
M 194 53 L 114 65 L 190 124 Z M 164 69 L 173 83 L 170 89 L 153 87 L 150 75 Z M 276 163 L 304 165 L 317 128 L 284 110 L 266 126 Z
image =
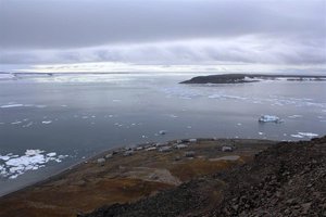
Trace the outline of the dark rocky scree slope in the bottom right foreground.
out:
M 280 142 L 244 165 L 78 216 L 326 216 L 326 137 Z

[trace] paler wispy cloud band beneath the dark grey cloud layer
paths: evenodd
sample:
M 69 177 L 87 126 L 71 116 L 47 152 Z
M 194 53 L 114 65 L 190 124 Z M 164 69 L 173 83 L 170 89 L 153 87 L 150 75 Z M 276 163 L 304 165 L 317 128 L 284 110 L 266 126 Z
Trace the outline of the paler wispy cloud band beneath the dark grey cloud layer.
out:
M 104 46 L 87 49 L 9 52 L 0 63 L 46 64 L 125 62 L 135 64 L 326 64 L 324 47 L 293 38 L 248 36 L 228 40 L 196 39 L 171 42 Z

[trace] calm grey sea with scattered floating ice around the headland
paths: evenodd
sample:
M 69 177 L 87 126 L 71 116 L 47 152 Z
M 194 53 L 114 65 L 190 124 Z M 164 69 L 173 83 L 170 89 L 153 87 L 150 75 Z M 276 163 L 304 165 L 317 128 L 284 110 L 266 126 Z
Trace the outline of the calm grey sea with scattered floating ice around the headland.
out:
M 198 137 L 299 140 L 326 133 L 325 81 L 178 84 L 192 76 L 0 80 L 0 195 L 113 146 Z M 264 114 L 284 122 L 260 124 Z M 26 150 L 38 151 L 26 155 Z M 9 165 L 9 158 L 24 161 Z

